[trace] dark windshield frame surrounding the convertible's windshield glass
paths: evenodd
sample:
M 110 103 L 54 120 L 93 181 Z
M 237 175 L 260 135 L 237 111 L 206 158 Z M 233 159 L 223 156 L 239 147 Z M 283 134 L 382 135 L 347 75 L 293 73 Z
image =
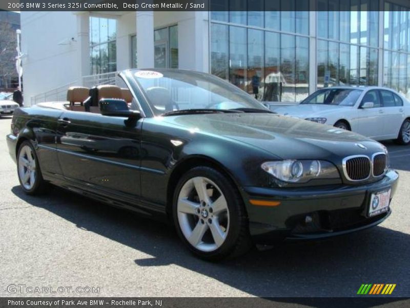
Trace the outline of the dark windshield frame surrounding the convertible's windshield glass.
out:
M 163 113 L 158 113 L 158 111 L 154 111 L 152 109 L 152 103 L 150 102 L 149 98 L 147 97 L 147 94 L 144 90 L 144 87 L 139 83 L 138 79 L 134 77 L 134 74 L 137 71 L 157 71 L 157 72 L 166 72 L 166 71 L 178 71 L 181 73 L 187 73 L 187 74 L 197 74 L 197 75 L 203 75 L 204 78 L 210 79 L 211 83 L 214 83 L 220 87 L 227 88 L 231 92 L 234 92 L 234 94 L 239 95 L 244 99 L 244 101 L 250 102 L 249 106 L 251 108 L 255 109 L 260 109 L 260 110 L 266 110 L 269 111 L 267 107 L 265 107 L 261 102 L 255 100 L 251 95 L 249 95 L 247 92 L 241 90 L 240 88 L 236 87 L 235 85 L 219 78 L 218 76 L 209 74 L 209 73 L 204 73 L 204 72 L 197 72 L 197 71 L 192 71 L 192 70 L 183 70 L 183 69 L 167 69 L 167 68 L 155 68 L 155 69 L 128 69 L 125 71 L 122 71 L 119 73 L 120 78 L 124 80 L 126 85 L 129 87 L 131 90 L 131 93 L 133 94 L 133 97 L 137 103 L 138 108 L 140 109 L 141 115 L 145 118 L 153 118 L 153 117 L 158 117 L 162 116 L 166 112 Z M 181 110 L 190 110 L 189 109 L 181 109 Z M 192 108 L 196 109 L 196 108 Z M 209 108 L 212 109 L 212 108 Z M 220 109 L 224 110 L 224 109 Z M 225 109 L 229 110 L 229 109 Z

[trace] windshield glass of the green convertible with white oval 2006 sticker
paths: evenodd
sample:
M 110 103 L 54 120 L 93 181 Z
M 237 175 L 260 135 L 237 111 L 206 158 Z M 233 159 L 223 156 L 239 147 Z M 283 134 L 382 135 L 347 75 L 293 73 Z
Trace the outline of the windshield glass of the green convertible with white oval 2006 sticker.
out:
M 269 112 L 248 93 L 211 74 L 172 69 L 131 70 L 131 73 L 155 115 L 177 110 L 181 113 L 228 109 Z

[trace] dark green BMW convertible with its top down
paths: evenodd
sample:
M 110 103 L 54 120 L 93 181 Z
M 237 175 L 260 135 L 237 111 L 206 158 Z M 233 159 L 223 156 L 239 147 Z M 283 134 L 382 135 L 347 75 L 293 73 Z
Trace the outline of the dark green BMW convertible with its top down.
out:
M 210 74 L 120 77 L 128 90 L 98 86 L 78 104 L 84 88 L 71 88 L 70 103 L 15 111 L 7 141 L 24 191 L 52 183 L 168 218 L 207 260 L 253 243 L 341 235 L 391 214 L 398 174 L 380 143 L 272 113 Z

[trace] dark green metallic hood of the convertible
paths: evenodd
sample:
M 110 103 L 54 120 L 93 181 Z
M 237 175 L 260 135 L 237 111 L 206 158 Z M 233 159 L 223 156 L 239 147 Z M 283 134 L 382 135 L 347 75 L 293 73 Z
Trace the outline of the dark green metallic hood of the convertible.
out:
M 192 134 L 247 143 L 282 159 L 330 159 L 384 150 L 380 143 L 351 131 L 277 114 L 190 114 L 164 117 L 162 121 L 182 126 Z

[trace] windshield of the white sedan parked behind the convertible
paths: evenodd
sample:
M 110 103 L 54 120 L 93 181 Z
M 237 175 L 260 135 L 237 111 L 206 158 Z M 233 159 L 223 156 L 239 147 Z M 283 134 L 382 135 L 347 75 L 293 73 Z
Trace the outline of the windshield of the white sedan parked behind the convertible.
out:
M 318 90 L 301 104 L 354 106 L 363 90 L 329 88 Z

